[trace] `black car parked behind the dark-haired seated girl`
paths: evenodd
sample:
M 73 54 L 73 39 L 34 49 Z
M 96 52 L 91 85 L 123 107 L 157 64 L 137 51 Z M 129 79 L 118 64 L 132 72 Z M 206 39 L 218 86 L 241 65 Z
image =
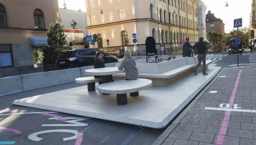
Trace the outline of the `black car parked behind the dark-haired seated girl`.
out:
M 95 55 L 101 52 L 105 64 L 118 62 L 117 58 L 113 55 L 107 55 L 99 49 L 75 49 L 62 52 L 56 60 L 57 70 L 69 69 L 75 67 L 86 67 L 93 65 Z

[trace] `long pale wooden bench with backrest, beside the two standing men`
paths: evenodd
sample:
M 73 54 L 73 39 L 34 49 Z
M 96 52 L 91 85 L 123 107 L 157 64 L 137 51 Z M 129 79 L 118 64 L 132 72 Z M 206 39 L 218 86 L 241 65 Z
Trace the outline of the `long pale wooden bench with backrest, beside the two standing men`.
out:
M 157 64 L 137 63 L 136 67 L 139 72 L 139 78 L 152 80 L 153 86 L 166 86 L 184 75 L 191 73 L 197 63 L 197 57 L 185 57 Z M 209 63 L 210 61 L 207 61 L 207 65 Z M 115 67 L 119 65 L 116 64 Z M 113 77 L 115 80 L 122 80 L 125 78 L 125 73 L 114 74 Z

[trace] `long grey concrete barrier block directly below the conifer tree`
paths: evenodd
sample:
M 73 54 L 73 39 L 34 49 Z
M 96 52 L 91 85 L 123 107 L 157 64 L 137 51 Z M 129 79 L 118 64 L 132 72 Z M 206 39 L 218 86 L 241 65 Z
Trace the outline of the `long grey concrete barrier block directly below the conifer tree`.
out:
M 79 67 L 66 70 L 55 70 L 44 73 L 21 75 L 21 80 L 23 90 L 32 90 L 41 87 L 72 82 L 75 81 L 76 78 L 80 77 L 81 71 Z

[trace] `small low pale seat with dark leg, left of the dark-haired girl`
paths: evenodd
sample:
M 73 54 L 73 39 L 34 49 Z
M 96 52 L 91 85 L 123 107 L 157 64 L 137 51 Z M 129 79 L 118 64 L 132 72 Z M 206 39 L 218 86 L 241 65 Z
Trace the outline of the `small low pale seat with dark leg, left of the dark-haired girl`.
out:
M 95 82 L 102 81 L 102 78 L 94 78 L 94 76 L 76 78 L 76 83 L 87 83 L 88 91 L 95 91 Z

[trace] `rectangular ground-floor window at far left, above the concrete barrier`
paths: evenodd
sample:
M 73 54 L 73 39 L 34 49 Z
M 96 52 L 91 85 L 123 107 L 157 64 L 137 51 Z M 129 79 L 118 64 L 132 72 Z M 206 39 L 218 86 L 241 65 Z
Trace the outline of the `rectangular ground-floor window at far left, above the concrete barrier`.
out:
M 13 67 L 11 44 L 0 44 L 0 68 L 5 67 Z

